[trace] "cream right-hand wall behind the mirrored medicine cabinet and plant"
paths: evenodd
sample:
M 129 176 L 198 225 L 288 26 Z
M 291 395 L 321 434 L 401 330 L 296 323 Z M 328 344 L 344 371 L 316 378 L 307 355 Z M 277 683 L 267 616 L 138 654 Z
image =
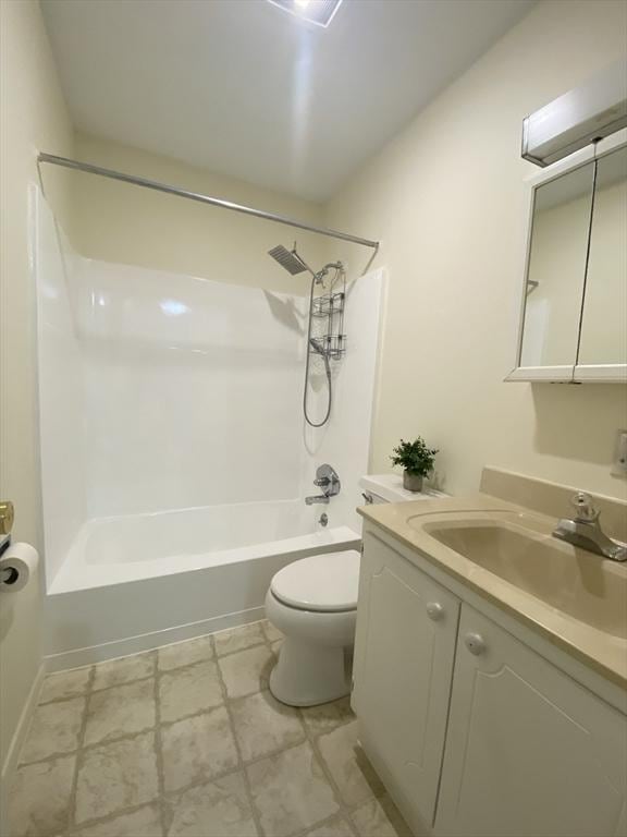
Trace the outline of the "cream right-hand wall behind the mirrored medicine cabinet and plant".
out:
M 524 259 L 522 118 L 625 50 L 627 5 L 539 3 L 333 199 L 390 269 L 372 468 L 401 437 L 442 449 L 444 487 L 485 463 L 625 496 L 611 476 L 623 386 L 504 384 Z

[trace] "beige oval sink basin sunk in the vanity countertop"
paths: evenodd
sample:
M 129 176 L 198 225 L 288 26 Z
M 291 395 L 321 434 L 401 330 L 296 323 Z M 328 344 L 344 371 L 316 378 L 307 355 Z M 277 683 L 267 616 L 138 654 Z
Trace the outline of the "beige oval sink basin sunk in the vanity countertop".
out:
M 506 521 L 422 522 L 423 532 L 551 607 L 627 639 L 627 567 Z

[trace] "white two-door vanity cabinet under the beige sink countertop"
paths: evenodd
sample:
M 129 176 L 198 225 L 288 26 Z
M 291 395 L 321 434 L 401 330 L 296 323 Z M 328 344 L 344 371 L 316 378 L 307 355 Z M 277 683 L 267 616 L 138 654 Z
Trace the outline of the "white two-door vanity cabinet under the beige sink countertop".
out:
M 437 837 L 625 834 L 625 715 L 379 531 L 364 538 L 353 705 L 409 825 Z

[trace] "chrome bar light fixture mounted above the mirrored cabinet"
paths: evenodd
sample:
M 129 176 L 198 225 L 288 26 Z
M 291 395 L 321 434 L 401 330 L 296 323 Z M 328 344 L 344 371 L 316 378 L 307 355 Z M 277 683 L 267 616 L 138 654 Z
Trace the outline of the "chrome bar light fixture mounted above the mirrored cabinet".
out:
M 627 125 L 627 61 L 531 113 L 522 122 L 522 157 L 550 166 Z

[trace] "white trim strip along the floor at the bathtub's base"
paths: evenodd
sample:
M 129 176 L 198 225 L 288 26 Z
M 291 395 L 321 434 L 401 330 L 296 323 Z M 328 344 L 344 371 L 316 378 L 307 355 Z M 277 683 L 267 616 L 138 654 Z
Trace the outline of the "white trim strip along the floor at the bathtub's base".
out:
M 165 628 L 161 631 L 143 633 L 138 636 L 128 636 L 116 642 L 106 642 L 101 645 L 90 645 L 84 648 L 65 651 L 61 654 L 51 654 L 45 657 L 44 664 L 47 672 L 81 668 L 81 666 L 89 666 L 94 663 L 103 663 L 106 659 L 140 654 L 143 651 L 151 651 L 162 645 L 171 645 L 173 642 L 193 640 L 195 636 L 204 636 L 207 633 L 223 631 L 226 628 L 237 628 L 249 622 L 258 622 L 265 618 L 265 608 L 254 607 L 249 610 L 217 616 L 199 622 L 188 622 L 187 624 L 179 624 L 174 628 Z

